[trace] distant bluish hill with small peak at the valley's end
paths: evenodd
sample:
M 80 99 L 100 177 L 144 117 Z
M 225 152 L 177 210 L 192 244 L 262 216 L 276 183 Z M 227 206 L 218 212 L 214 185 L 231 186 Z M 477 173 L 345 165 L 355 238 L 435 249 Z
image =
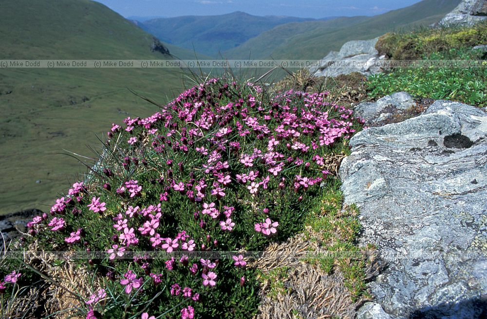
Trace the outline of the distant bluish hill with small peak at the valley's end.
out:
M 158 18 L 139 26 L 171 44 L 208 55 L 234 48 L 273 27 L 290 22 L 314 20 L 295 17 L 256 17 L 244 12 L 219 16 Z

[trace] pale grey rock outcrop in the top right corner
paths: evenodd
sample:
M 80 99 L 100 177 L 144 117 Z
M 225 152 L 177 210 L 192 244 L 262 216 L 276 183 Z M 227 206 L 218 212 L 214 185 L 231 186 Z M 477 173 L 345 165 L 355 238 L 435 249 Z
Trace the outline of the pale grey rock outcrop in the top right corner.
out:
M 487 0 L 462 0 L 445 18 L 440 25 L 472 25 L 487 19 L 483 11 L 487 9 Z

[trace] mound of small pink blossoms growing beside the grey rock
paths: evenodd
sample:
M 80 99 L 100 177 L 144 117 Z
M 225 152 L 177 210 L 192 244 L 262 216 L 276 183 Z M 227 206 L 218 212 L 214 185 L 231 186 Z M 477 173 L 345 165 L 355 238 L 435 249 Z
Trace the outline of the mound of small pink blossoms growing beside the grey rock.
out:
M 325 147 L 340 138 L 350 137 L 354 132 L 351 112 L 327 104 L 324 100 L 326 94 L 287 91 L 272 99 L 270 105 L 266 105 L 261 102 L 262 99 L 253 96 L 262 92 L 262 89 L 248 84 L 248 88 L 255 94 L 240 94 L 228 102 L 223 97 L 230 97 L 230 89 L 239 91 L 241 88 L 236 83 L 218 87 L 218 81 L 210 79 L 205 85 L 187 90 L 163 107 L 161 112 L 148 118 L 125 119 L 125 128 L 112 125 L 111 132 L 108 132 L 109 137 L 125 134 L 124 141 L 133 146 L 125 144 L 124 147 L 131 153 L 126 154 L 120 169 L 112 167 L 113 172 L 110 169 L 103 171 L 107 177 L 112 178 L 103 185 L 103 192 L 111 192 L 113 198 L 117 198 L 114 203 L 108 202 L 108 199 L 107 202 L 111 210 L 118 212 L 111 216 L 107 212 L 99 217 L 114 216 L 112 230 L 116 232 L 110 243 L 111 248 L 108 249 L 111 266 L 124 265 L 121 257 L 129 246 L 165 250 L 168 253 L 225 247 L 222 238 L 235 236 L 234 234 L 245 229 L 239 224 L 243 220 L 252 220 L 251 224 L 255 223 L 254 229 L 265 236 L 259 238 L 262 241 L 267 240 L 266 237 L 278 231 L 280 212 L 272 208 L 274 200 L 267 201 L 266 196 L 293 194 L 296 198 L 302 198 L 300 195 L 313 190 L 313 186 L 329 174 L 323 167 L 327 154 Z M 212 85 L 215 85 L 218 92 L 210 94 Z M 332 111 L 341 114 L 336 116 Z M 147 146 L 137 143 L 146 141 L 146 138 L 150 141 Z M 248 141 L 254 142 L 248 144 Z M 120 185 L 120 179 L 127 180 L 125 178 L 130 178 L 127 176 L 136 178 L 136 174 L 127 174 L 123 175 L 123 179 L 116 179 L 120 177 L 120 170 L 132 173 L 132 168 L 137 172 L 137 167 L 142 167 L 138 166 L 139 160 L 143 161 L 137 159 L 142 154 L 138 153 L 139 147 L 147 147 L 146 150 L 161 159 L 161 166 L 158 167 L 161 176 L 150 181 L 154 186 L 146 184 L 147 181 L 144 180 L 143 193 L 137 180 L 130 179 Z M 199 166 L 195 169 L 194 164 L 182 159 L 182 156 L 185 159 L 186 156 L 195 159 Z M 197 174 L 193 174 L 194 172 Z M 142 177 L 138 178 L 141 180 Z M 115 180 L 119 187 L 113 192 L 110 183 Z M 147 188 L 145 185 L 148 185 Z M 157 194 L 151 194 L 153 188 L 157 189 Z M 90 194 L 90 197 L 93 196 L 91 203 L 86 202 L 90 199 L 83 198 L 84 195 L 88 197 L 88 192 L 82 182 L 75 183 L 68 194 L 69 196 L 56 200 L 51 209 L 53 215 L 70 211 L 79 214 L 83 212 L 83 209 L 78 210 L 80 207 L 85 212 L 86 208 L 95 213 L 107 210 L 107 204 L 101 201 L 99 194 Z M 111 197 L 103 195 L 102 198 Z M 159 203 L 146 206 L 146 200 L 157 199 L 160 200 Z M 192 205 L 191 209 L 183 213 L 188 213 L 190 222 L 194 217 L 197 230 L 188 228 L 193 238 L 182 230 L 178 230 L 181 232 L 177 235 L 175 230 L 167 230 L 166 215 L 163 216 L 163 212 L 169 212 L 168 209 L 172 208 L 169 205 L 174 201 Z M 250 218 L 240 209 L 249 202 L 258 206 L 257 213 Z M 170 214 L 171 217 L 173 215 Z M 29 226 L 37 230 L 45 227 L 45 223 L 51 230 L 64 230 L 65 242 L 74 245 L 73 247 L 81 242 L 81 237 L 85 237 L 84 231 L 76 227 L 78 225 L 65 225 L 64 219 L 59 215 L 50 221 L 47 221 L 47 216 L 36 216 Z M 92 230 L 86 228 L 85 231 Z M 227 266 L 246 266 L 243 255 L 235 255 L 232 259 Z M 218 263 L 206 259 L 201 259 L 198 263 L 183 256 L 179 263 L 177 259 L 171 258 L 154 266 L 155 263 L 150 260 L 137 257 L 134 258 L 133 265 L 140 266 L 139 270 L 146 277 L 136 275 L 135 268 L 134 271 L 122 268 L 125 275 L 119 278 L 120 285 L 126 294 L 131 294 L 142 287 L 145 279 L 151 278 L 152 284 L 157 286 L 167 280 L 168 273 L 185 271 L 187 275 L 198 279 L 200 287 L 203 285 L 204 289 L 218 289 L 227 283 L 227 278 L 222 273 L 217 275 L 221 269 L 220 266 L 216 270 Z M 245 276 L 238 277 L 240 278 L 236 280 L 240 280 L 243 286 Z M 217 285 L 218 280 L 221 283 Z M 170 287 L 171 296 L 199 301 L 199 294 L 194 293 L 190 287 L 174 284 L 174 281 L 165 284 L 168 289 Z M 100 289 L 86 303 L 95 306 L 105 299 L 106 292 Z M 91 318 L 95 318 L 93 309 L 90 311 Z M 192 319 L 195 316 L 191 306 L 181 309 L 180 312 L 183 319 Z M 141 318 L 152 319 L 154 316 L 149 317 L 149 313 L 143 313 Z

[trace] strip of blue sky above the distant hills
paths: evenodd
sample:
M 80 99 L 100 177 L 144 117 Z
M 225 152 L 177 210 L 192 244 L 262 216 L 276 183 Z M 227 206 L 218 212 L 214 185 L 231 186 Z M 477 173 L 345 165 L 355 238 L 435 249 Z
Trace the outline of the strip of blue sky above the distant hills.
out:
M 255 16 L 374 16 L 420 0 L 97 0 L 129 16 L 208 16 L 243 11 Z

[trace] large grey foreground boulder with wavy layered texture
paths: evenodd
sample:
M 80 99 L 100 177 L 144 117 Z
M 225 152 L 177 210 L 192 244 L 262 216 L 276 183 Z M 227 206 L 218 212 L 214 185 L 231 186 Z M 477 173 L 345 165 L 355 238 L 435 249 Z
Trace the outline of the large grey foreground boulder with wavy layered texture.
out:
M 436 101 L 350 145 L 345 203 L 387 263 L 357 318 L 487 318 L 487 113 Z

